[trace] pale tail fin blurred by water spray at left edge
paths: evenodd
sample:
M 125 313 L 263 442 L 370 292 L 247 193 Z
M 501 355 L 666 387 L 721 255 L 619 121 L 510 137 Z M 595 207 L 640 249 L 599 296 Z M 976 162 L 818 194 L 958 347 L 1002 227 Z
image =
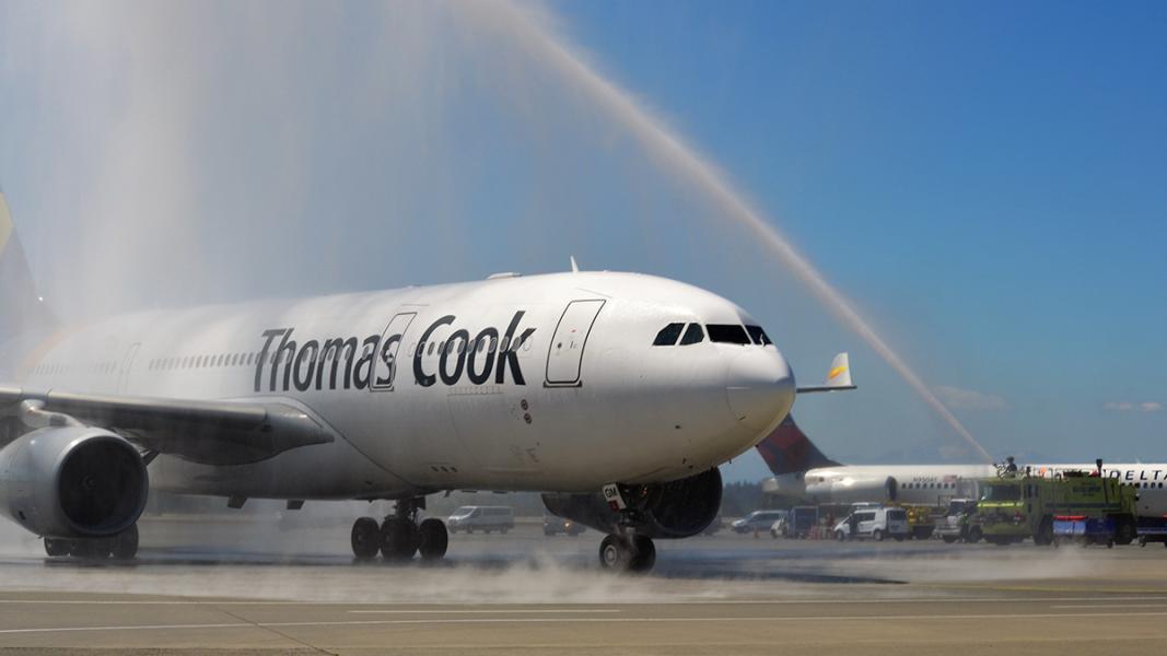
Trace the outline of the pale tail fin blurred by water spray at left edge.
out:
M 36 294 L 25 249 L 0 193 L 0 344 L 44 330 L 51 323 L 53 314 Z

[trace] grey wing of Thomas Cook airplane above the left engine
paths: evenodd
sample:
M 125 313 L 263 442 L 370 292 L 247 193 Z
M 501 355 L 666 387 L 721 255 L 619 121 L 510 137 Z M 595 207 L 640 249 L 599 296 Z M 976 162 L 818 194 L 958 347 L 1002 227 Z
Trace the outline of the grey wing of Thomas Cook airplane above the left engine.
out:
M 30 426 L 81 423 L 146 452 L 203 465 L 245 465 L 334 441 L 310 414 L 279 402 L 182 400 L 0 388 L 0 419 Z

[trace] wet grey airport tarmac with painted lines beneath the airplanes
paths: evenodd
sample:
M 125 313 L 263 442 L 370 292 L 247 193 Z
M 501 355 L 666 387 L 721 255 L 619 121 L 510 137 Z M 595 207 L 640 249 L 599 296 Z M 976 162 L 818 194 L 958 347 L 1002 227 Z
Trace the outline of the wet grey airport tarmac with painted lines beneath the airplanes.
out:
M 356 565 L 347 525 L 148 521 L 130 565 L 0 539 L 14 654 L 1133 654 L 1167 637 L 1167 549 L 659 543 L 647 577 L 600 536 L 454 536 L 433 566 Z

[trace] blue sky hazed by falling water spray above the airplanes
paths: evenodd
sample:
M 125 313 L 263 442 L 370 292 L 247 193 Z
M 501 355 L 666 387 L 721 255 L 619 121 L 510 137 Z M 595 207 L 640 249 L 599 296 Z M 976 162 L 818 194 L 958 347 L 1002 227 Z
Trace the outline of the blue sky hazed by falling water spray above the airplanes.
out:
M 574 253 L 734 299 L 802 381 L 850 350 L 860 390 L 796 405 L 829 454 L 969 458 L 504 21 L 280 7 L 0 2 L 0 184 L 50 299 L 327 293 Z M 1167 459 L 1167 6 L 536 9 L 732 180 L 994 455 Z

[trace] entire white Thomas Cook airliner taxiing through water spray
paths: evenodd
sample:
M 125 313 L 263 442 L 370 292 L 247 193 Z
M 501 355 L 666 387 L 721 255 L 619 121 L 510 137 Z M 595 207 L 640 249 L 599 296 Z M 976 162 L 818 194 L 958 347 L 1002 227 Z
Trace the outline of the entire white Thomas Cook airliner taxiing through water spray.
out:
M 609 533 L 609 568 L 718 512 L 718 465 L 797 390 L 764 330 L 697 287 L 579 272 L 114 316 L 16 340 L 0 388 L 0 512 L 50 556 L 137 551 L 149 489 L 397 500 L 357 558 L 441 558 L 425 496 L 536 490 Z M 78 275 L 83 274 L 78 272 Z M 47 324 L 0 196 L 0 330 Z M 11 337 L 12 334 L 2 337 Z M 841 363 L 841 364 L 840 364 Z M 0 379 L 0 384 L 5 381 Z M 147 474 L 148 472 L 148 474 Z

